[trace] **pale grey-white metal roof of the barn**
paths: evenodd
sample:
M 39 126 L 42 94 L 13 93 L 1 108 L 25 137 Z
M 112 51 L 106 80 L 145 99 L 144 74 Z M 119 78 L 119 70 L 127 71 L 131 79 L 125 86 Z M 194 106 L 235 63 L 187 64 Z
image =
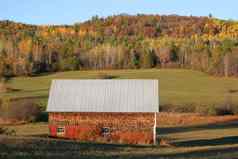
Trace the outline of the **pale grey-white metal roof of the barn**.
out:
M 158 112 L 158 80 L 53 80 L 48 112 Z

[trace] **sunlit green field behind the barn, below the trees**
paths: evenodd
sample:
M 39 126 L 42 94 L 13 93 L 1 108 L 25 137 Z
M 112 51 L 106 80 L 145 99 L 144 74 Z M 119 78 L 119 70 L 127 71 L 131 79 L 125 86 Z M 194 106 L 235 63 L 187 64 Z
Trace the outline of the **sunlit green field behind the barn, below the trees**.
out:
M 238 105 L 238 78 L 219 78 L 207 74 L 179 69 L 107 70 L 60 72 L 38 77 L 14 78 L 13 92 L 0 94 L 10 97 L 47 98 L 52 79 L 96 79 L 107 74 L 119 79 L 159 79 L 161 105 L 215 105 L 222 104 L 230 93 L 233 104 Z

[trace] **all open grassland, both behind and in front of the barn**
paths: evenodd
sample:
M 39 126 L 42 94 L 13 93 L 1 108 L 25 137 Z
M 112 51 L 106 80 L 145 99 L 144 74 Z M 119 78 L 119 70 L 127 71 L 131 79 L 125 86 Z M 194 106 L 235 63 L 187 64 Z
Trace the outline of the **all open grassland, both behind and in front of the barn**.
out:
M 238 105 L 238 78 L 219 78 L 178 69 L 61 72 L 38 77 L 17 77 L 1 94 L 12 98 L 34 97 L 47 101 L 52 79 L 159 79 L 160 105 L 213 106 L 229 94 Z M 232 93 L 231 93 L 232 92 Z M 0 158 L 162 158 L 238 159 L 238 116 L 160 113 L 157 146 L 115 145 L 48 137 L 47 122 L 1 126 L 15 130 L 0 135 Z

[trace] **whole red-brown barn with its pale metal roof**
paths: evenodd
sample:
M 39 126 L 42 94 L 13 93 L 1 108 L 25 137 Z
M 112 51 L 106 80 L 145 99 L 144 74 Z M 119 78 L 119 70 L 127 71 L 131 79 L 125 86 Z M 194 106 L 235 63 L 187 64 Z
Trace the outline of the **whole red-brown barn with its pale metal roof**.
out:
M 50 136 L 155 144 L 158 109 L 158 80 L 54 80 Z

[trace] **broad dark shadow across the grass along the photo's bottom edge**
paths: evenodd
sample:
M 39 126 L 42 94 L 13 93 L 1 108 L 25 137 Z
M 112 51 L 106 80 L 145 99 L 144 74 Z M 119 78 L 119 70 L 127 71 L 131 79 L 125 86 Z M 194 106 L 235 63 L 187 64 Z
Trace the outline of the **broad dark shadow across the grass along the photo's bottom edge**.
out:
M 234 139 L 234 138 L 233 138 Z M 237 138 L 235 137 L 237 140 Z M 231 140 L 231 139 L 229 139 Z M 211 141 L 212 142 L 212 141 Z M 0 139 L 0 158 L 229 158 L 238 155 L 238 147 L 208 148 L 179 152 L 171 148 L 163 153 L 161 147 L 82 143 L 46 138 Z M 144 153 L 143 153 L 144 151 Z M 177 152 L 176 152 L 177 151 Z M 225 158 L 223 157 L 223 158 Z

